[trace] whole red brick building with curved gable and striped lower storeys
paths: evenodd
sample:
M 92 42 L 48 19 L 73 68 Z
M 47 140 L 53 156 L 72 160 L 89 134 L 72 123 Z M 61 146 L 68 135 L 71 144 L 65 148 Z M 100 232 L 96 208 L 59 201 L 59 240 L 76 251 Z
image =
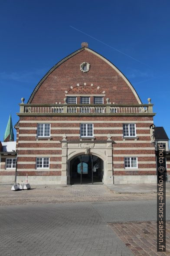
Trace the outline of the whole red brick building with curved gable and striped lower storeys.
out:
M 157 182 L 150 99 L 142 104 L 124 74 L 87 43 L 23 101 L 18 182 L 26 173 L 31 184 Z

